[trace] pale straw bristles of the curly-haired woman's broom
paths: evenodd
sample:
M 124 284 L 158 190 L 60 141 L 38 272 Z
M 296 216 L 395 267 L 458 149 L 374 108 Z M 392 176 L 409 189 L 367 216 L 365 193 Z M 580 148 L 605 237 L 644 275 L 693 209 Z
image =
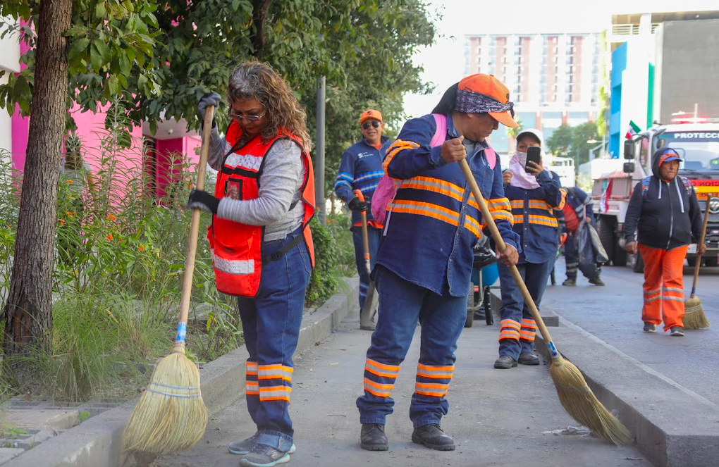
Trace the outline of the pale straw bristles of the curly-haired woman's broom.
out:
M 184 353 L 166 356 L 152 372 L 124 430 L 124 450 L 166 456 L 197 443 L 207 427 L 200 370 Z

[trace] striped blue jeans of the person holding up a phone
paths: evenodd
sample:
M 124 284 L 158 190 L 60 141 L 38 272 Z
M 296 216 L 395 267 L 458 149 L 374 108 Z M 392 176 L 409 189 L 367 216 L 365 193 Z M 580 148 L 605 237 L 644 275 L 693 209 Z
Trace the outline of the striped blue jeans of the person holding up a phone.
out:
M 544 263 L 517 264 L 519 274 L 529 290 L 529 295 L 539 309 L 541 297 L 546 290 L 546 281 L 554 266 L 554 259 Z M 509 267 L 499 263 L 500 289 L 502 291 L 502 322 L 500 323 L 499 354 L 518 359 L 520 353 L 534 350 L 536 322 L 529 307 L 524 302 L 522 292 L 514 282 Z

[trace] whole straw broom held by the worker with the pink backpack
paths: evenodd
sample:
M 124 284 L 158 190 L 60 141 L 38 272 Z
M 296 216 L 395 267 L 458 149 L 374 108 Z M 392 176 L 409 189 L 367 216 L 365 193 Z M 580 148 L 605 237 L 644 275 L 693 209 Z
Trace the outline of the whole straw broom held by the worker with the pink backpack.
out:
M 487 208 L 485 199 L 482 198 L 482 193 L 477 186 L 475 176 L 472 175 L 470 165 L 467 164 L 467 159 L 460 160 L 459 165 L 462 167 L 464 177 L 467 178 L 467 183 L 469 183 L 470 188 L 472 188 L 472 194 L 475 195 L 477 204 L 480 205 L 482 218 L 487 222 L 495 243 L 500 251 L 504 251 L 507 246 L 502 236 L 500 236 L 497 224 L 492 218 L 489 208 Z M 559 354 L 557 347 L 554 346 L 554 342 L 551 340 L 551 336 L 549 336 L 549 330 L 547 330 L 546 325 L 544 325 L 544 320 L 542 320 L 541 315 L 539 315 L 539 310 L 537 310 L 534 300 L 532 300 L 526 285 L 524 285 L 519 270 L 514 265 L 511 266 L 510 269 L 514 280 L 522 292 L 524 302 L 531 310 L 537 327 L 542 337 L 544 337 L 547 347 L 551 351 L 551 379 L 554 380 L 554 386 L 557 387 L 557 395 L 559 395 L 559 401 L 562 402 L 564 410 L 567 410 L 574 420 L 589 427 L 594 433 L 600 436 L 600 438 L 611 441 L 616 445 L 631 443 L 632 435 L 629 430 L 599 402 L 599 399 L 594 395 L 592 389 L 587 386 L 587 382 L 580 370 L 577 369 L 577 366 L 574 366 L 572 362 L 564 359 Z

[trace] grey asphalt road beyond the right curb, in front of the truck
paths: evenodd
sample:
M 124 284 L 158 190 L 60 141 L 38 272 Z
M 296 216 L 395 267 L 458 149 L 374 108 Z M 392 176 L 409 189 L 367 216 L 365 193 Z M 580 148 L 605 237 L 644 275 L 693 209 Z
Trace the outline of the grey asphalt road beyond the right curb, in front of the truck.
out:
M 694 269 L 684 268 L 686 297 L 692 288 Z M 674 380 L 683 387 L 719 404 L 719 268 L 703 268 L 697 296 L 714 326 L 686 331 L 684 337 L 644 333 L 641 321 L 644 274 L 628 267 L 605 267 L 606 287 L 590 285 L 580 273 L 576 287 L 562 287 L 564 259 L 557 261 L 557 285 L 547 287 L 542 310 L 557 313 L 611 346 Z M 560 343 L 561 345 L 561 343 Z

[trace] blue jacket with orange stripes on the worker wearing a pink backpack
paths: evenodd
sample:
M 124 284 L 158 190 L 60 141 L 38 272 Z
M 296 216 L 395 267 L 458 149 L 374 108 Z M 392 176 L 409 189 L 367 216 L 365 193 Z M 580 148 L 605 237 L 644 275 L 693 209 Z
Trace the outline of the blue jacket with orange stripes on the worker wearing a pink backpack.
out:
M 461 297 L 470 285 L 472 246 L 486 225 L 459 164 L 445 164 L 441 147 L 431 147 L 435 132 L 434 116 L 412 119 L 387 150 L 385 170 L 402 185 L 390 203 L 377 264 L 440 295 Z M 445 140 L 458 136 L 449 115 Z M 467 162 L 503 239 L 519 249 L 499 159 L 492 169 L 486 143 L 466 146 Z

